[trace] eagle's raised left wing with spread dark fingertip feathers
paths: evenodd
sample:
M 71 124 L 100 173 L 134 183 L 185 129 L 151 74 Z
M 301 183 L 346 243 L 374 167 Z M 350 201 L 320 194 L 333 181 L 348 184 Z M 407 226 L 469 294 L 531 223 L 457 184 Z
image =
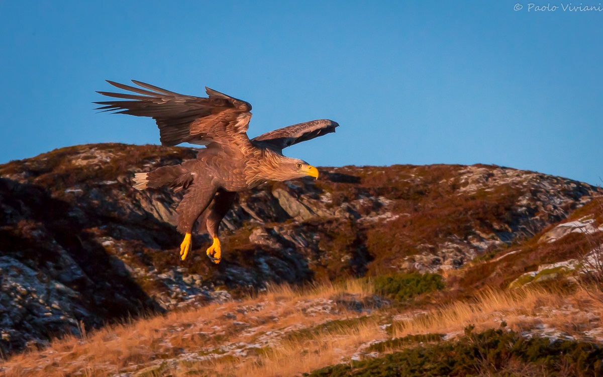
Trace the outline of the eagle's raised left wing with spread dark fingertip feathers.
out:
M 251 104 L 245 101 L 209 87 L 205 88 L 209 97 L 193 97 L 136 80 L 132 82 L 139 87 L 107 82 L 136 94 L 98 92 L 123 100 L 95 102 L 103 105 L 96 110 L 155 119 L 162 145 L 171 147 L 189 142 L 226 146 L 233 141 L 249 142 L 247 128 L 251 119 Z

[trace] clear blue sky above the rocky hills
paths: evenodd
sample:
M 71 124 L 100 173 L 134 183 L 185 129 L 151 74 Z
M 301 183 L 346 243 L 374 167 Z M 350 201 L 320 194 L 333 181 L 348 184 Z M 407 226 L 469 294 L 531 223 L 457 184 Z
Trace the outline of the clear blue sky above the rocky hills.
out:
M 152 119 L 92 110 L 103 80 L 133 78 L 242 98 L 252 137 L 339 122 L 285 151 L 314 165 L 494 163 L 600 185 L 602 37 L 603 11 L 515 0 L 0 0 L 0 163 L 157 144 Z

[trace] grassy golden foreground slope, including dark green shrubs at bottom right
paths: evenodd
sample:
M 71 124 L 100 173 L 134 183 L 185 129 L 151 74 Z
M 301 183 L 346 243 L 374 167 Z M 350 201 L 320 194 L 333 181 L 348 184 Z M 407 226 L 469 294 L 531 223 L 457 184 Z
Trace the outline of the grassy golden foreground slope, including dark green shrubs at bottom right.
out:
M 399 274 L 394 280 L 412 287 L 419 276 Z M 419 280 L 431 279 L 426 276 L 433 275 Z M 600 290 L 484 290 L 465 302 L 419 309 L 417 302 L 408 301 L 409 289 L 405 297 L 398 297 L 402 301 L 376 299 L 376 292 L 383 293 L 384 280 L 362 278 L 294 290 L 280 285 L 254 297 L 105 326 L 14 355 L 0 362 L 0 373 L 5 377 L 603 373 Z M 425 291 L 429 285 L 421 286 L 423 296 L 433 293 Z

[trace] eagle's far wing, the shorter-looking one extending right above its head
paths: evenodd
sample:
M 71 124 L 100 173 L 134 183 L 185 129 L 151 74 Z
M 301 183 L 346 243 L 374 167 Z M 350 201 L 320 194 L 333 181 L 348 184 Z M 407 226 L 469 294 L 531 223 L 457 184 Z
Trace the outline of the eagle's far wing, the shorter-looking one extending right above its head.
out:
M 257 136 L 251 141 L 264 148 L 271 148 L 280 152 L 290 145 L 335 132 L 335 127 L 339 127 L 337 122 L 329 119 L 318 119 L 279 128 Z

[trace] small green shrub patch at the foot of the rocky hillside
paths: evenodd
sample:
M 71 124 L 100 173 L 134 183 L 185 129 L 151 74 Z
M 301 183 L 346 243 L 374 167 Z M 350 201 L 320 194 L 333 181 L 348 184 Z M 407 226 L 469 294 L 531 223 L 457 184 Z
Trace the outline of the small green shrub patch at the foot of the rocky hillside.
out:
M 393 300 L 405 301 L 423 293 L 444 288 L 438 274 L 399 273 L 373 278 L 375 292 Z

